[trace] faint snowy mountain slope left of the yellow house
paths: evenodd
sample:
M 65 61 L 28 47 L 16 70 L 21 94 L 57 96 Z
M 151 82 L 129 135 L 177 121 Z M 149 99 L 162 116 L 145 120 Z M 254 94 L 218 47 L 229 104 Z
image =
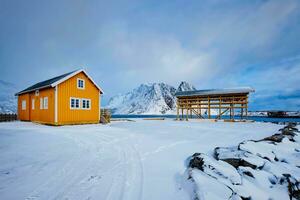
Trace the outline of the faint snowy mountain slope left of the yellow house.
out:
M 0 80 L 0 113 L 16 113 L 17 98 L 14 84 Z

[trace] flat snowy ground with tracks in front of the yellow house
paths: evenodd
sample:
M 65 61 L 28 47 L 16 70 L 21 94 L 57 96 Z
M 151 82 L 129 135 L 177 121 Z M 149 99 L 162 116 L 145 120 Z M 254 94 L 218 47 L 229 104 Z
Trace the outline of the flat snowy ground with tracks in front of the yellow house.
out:
M 190 199 L 186 160 L 261 139 L 271 123 L 137 120 L 53 127 L 0 123 L 0 199 Z

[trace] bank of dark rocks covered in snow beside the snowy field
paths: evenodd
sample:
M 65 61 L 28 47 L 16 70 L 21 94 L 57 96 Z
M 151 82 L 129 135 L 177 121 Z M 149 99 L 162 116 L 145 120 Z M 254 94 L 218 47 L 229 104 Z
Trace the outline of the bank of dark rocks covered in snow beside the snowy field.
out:
M 215 148 L 215 158 L 189 158 L 195 199 L 300 199 L 299 131 L 295 124 L 279 131 L 280 140 L 247 140 Z

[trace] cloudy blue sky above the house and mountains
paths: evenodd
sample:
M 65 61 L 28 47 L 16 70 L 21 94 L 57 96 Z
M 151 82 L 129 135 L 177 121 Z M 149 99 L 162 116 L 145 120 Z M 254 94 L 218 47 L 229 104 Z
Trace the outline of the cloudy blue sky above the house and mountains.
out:
M 84 68 L 111 96 L 141 83 L 251 86 L 253 110 L 300 109 L 298 0 L 1 0 L 0 80 Z

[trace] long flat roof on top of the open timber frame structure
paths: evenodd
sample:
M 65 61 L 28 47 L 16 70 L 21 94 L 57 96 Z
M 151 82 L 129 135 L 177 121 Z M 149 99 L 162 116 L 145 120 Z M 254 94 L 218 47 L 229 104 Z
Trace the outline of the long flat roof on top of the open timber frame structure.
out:
M 209 90 L 194 90 L 194 91 L 182 91 L 176 92 L 175 96 L 207 96 L 207 95 L 229 95 L 229 94 L 248 94 L 254 92 L 254 89 L 250 87 L 243 88 L 230 88 L 230 89 L 209 89 Z

